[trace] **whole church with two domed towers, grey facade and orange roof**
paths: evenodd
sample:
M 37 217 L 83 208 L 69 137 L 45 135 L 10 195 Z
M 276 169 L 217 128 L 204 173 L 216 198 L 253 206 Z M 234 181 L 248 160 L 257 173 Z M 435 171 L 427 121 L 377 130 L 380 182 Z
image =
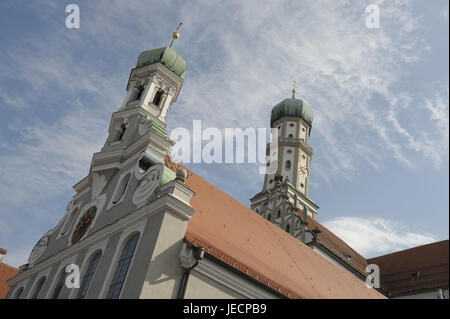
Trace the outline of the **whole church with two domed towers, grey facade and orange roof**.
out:
M 366 286 L 367 260 L 317 222 L 313 112 L 295 90 L 272 110 L 278 170 L 251 209 L 170 159 L 165 118 L 186 67 L 171 47 L 139 55 L 89 174 L 8 281 L 7 298 L 389 296 Z M 79 285 L 70 286 L 74 265 Z

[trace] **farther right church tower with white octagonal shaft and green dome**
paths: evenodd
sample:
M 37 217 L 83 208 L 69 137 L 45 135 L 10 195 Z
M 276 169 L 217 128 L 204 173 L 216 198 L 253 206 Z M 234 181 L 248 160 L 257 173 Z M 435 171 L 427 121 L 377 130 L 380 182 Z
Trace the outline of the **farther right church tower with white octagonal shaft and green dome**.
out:
M 309 136 L 314 114 L 305 101 L 295 98 L 295 93 L 294 82 L 292 98 L 272 109 L 270 126 L 278 131 L 277 170 L 273 173 L 268 170 L 262 191 L 250 203 L 252 210 L 299 237 L 302 219 L 298 210 L 315 219 L 319 207 L 308 196 L 313 154 Z

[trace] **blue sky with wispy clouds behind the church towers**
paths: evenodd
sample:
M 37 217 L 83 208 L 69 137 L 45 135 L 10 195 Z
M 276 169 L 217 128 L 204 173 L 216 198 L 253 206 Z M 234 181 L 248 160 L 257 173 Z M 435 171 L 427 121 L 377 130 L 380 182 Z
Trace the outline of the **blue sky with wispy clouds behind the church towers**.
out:
M 65 7 L 80 7 L 80 29 Z M 365 8 L 380 6 L 380 28 Z M 448 1 L 2 1 L 0 247 L 19 266 L 65 213 L 103 145 L 138 54 L 170 43 L 188 70 L 168 131 L 267 127 L 311 105 L 318 220 L 366 257 L 449 237 Z M 245 205 L 251 164 L 189 164 Z

